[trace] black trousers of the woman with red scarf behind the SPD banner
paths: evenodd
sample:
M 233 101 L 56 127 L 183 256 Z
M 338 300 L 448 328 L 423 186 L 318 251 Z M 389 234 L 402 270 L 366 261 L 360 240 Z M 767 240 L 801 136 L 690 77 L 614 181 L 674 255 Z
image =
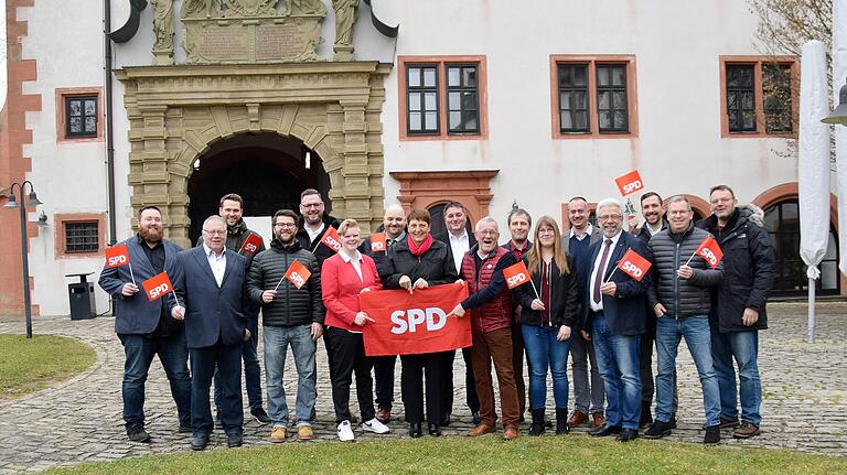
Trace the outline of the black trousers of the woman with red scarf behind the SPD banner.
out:
M 444 354 L 427 353 L 424 355 L 403 355 L 400 363 L 400 391 L 406 412 L 406 422 L 424 422 L 424 376 L 426 374 L 427 417 L 431 424 L 441 423 L 441 369 Z

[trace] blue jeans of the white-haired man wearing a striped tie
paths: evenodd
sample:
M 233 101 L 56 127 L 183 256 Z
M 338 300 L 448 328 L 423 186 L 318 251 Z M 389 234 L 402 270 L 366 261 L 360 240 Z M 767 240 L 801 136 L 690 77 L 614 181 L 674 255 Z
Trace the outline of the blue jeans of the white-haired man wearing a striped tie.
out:
M 604 316 L 593 319 L 591 338 L 605 389 L 605 422 L 639 430 L 641 420 L 641 371 L 639 335 L 615 335 Z

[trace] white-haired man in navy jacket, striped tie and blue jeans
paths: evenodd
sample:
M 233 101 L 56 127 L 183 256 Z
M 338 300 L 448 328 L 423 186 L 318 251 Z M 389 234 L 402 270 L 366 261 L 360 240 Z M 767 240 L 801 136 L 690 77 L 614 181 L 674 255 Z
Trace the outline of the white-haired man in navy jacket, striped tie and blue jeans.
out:
M 593 436 L 618 434 L 629 442 L 639 436 L 641 418 L 641 376 L 639 343 L 644 333 L 646 305 L 644 294 L 648 276 L 640 281 L 615 270 L 618 262 L 632 249 L 650 260 L 647 249 L 635 236 L 622 230 L 623 208 L 614 198 L 597 205 L 597 222 L 603 233 L 601 241 L 588 250 L 582 292 L 583 328 L 590 330 L 600 376 L 603 378 L 608 406 L 605 424 L 590 432 Z M 583 330 L 583 332 L 586 332 Z

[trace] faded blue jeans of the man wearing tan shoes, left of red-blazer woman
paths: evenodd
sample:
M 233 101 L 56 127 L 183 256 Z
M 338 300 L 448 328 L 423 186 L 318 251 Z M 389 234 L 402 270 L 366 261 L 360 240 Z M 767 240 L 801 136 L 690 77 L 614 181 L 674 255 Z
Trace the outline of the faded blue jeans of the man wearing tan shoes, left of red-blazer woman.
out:
M 275 428 L 288 425 L 288 403 L 283 376 L 288 346 L 294 356 L 297 368 L 297 401 L 294 413 L 297 425 L 311 425 L 315 390 L 317 371 L 314 353 L 317 345 L 312 341 L 311 325 L 264 326 L 265 334 L 265 386 L 268 389 L 268 415 Z

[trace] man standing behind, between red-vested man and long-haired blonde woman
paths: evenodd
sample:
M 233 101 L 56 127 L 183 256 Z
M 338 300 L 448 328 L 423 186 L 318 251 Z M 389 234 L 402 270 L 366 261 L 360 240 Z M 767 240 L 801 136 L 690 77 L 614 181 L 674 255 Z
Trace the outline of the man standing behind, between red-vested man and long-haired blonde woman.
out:
M 533 217 L 526 209 L 513 208 L 506 218 L 512 239 L 503 245 L 515 257 L 515 262 L 524 258 L 526 251 L 533 247 L 529 241 L 529 228 L 533 226 Z M 524 336 L 521 333 L 521 313 L 523 307 L 514 303 L 514 319 L 512 320 L 512 368 L 515 371 L 515 387 L 517 388 L 517 402 L 521 407 L 521 422 L 524 421 L 526 411 L 526 382 L 524 381 Z M 527 360 L 528 361 L 528 360 Z M 530 404 L 532 407 L 532 401 Z

